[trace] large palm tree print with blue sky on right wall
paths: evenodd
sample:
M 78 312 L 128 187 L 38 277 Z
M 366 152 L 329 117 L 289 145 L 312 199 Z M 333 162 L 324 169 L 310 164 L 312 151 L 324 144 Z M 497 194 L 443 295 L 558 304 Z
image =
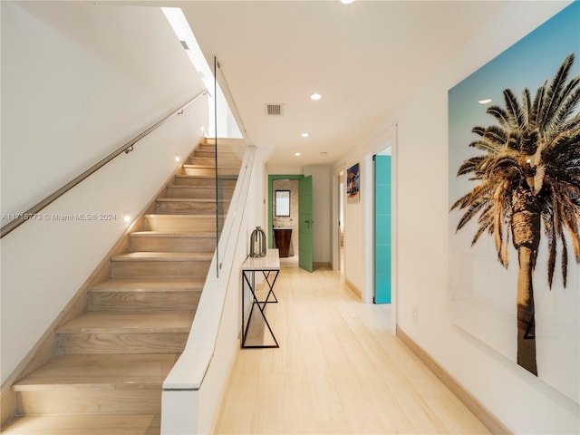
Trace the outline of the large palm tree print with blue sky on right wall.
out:
M 453 322 L 580 400 L 580 3 L 449 90 Z

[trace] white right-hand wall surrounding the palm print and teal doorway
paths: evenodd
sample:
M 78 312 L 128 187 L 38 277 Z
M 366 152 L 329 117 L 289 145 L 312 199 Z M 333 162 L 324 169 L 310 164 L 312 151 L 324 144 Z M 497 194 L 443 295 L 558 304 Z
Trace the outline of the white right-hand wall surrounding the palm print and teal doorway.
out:
M 398 125 L 398 324 L 405 333 L 514 433 L 579 433 L 578 403 L 507 361 L 451 323 L 448 313 L 447 92 L 498 53 L 561 10 L 566 3 L 511 2 L 429 82 L 418 86 L 386 126 Z M 421 120 L 418 123 L 417 120 Z M 388 140 L 388 129 L 383 140 Z M 363 161 L 372 138 L 346 156 Z M 362 167 L 361 171 L 369 170 Z M 365 187 L 361 186 L 362 192 Z M 362 198 L 364 200 L 364 198 Z M 362 254 L 362 207 L 346 205 L 346 278 L 368 285 L 353 264 Z M 417 323 L 412 320 L 418 310 Z

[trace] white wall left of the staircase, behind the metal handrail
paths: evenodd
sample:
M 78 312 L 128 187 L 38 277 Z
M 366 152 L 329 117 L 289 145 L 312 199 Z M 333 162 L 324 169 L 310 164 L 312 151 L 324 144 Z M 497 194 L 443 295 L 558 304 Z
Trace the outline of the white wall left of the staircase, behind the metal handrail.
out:
M 32 207 L 203 90 L 159 8 L 2 2 L 2 212 Z M 2 239 L 2 382 L 207 128 L 202 98 Z M 92 222 L 54 215 L 107 213 Z M 5 225 L 6 220 L 2 224 Z

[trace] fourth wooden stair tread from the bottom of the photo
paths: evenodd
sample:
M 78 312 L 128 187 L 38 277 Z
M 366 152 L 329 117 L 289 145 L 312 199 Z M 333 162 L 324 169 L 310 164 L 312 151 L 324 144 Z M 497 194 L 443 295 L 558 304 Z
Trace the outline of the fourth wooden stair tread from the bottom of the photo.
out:
M 98 292 L 201 291 L 204 278 L 108 278 L 89 289 Z

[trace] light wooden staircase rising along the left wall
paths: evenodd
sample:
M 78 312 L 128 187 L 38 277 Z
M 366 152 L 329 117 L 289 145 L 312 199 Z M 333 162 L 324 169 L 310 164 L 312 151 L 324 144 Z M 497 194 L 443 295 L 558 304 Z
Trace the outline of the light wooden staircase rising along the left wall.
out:
M 240 163 L 219 151 L 223 209 Z M 162 382 L 216 247 L 215 173 L 215 147 L 202 142 L 89 289 L 86 311 L 56 330 L 57 356 L 14 384 L 17 417 L 3 434 L 160 433 Z

